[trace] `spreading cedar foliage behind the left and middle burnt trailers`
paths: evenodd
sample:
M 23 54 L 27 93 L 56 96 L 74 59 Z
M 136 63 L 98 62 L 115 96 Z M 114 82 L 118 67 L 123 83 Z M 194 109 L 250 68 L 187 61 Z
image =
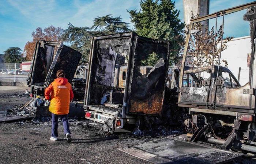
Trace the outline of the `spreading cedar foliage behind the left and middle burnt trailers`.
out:
M 116 32 L 127 32 L 128 23 L 122 22 L 121 17 L 106 15 L 94 18 L 91 27 L 75 27 L 68 23 L 68 28 L 63 30 L 62 39 L 71 44 L 71 48 L 83 54 L 83 63 L 89 60 L 91 38 L 97 35 L 113 34 Z

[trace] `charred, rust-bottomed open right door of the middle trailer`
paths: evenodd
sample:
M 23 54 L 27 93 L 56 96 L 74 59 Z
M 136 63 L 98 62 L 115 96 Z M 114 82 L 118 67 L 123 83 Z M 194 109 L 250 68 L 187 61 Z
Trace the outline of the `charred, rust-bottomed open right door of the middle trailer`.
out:
M 152 54 L 157 55 L 159 60 L 149 72 L 143 73 L 141 67 L 147 66 L 146 60 Z M 132 65 L 127 114 L 162 116 L 169 64 L 169 42 L 136 36 L 133 54 L 129 57 L 132 58 Z

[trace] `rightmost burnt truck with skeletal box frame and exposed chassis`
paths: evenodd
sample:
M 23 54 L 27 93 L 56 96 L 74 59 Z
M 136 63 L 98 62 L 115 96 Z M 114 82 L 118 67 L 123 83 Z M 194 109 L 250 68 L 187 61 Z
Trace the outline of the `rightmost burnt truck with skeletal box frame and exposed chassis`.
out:
M 182 60 L 178 106 L 189 108 L 190 115 L 185 120 L 185 128 L 188 131 L 187 136 L 191 137 L 190 140 L 193 142 L 204 140 L 222 145 L 223 149 L 236 148 L 256 152 L 255 6 L 256 2 L 240 5 L 192 19 L 189 24 Z M 245 61 L 245 66 L 239 58 L 229 62 L 228 55 L 234 54 L 223 54 L 225 51 L 221 52 L 220 49 L 225 44 L 223 33 L 230 28 L 236 28 L 236 22 L 229 21 L 229 25 L 225 23 L 225 20 L 228 20 L 234 12 L 244 12 L 241 21 L 248 23 L 247 27 L 249 27 L 248 31 L 251 35 L 251 45 L 239 44 L 233 47 L 236 48 L 234 53 L 240 52 L 241 48 L 249 47 L 248 54 L 243 54 L 249 56 L 248 61 Z M 237 16 L 237 21 L 238 18 Z M 218 53 L 217 60 L 212 58 L 210 66 L 185 70 L 185 65 L 193 58 L 193 56 L 189 56 L 189 52 L 193 48 L 191 42 L 196 40 L 196 36 L 199 35 L 195 28 L 196 24 L 209 20 L 214 20 L 215 39 L 217 39 L 216 31 L 219 31 L 221 37 L 219 43 L 214 42 L 214 45 L 211 45 L 210 55 Z M 218 23 L 222 25 L 219 30 L 217 30 Z M 230 26 L 230 23 L 233 24 Z M 227 67 L 223 67 L 225 60 L 228 62 Z M 248 74 L 245 73 L 244 79 L 240 79 L 240 81 L 237 80 L 239 77 L 236 78 L 233 74 L 235 71 L 238 72 L 239 67 L 247 67 L 249 70 Z M 246 79 L 246 77 L 248 78 Z

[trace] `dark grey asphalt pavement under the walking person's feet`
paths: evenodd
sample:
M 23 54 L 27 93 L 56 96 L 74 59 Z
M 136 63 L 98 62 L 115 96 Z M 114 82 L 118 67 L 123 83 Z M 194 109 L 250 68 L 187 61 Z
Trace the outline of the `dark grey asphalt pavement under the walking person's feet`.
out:
M 63 126 L 59 123 L 60 141 L 49 140 L 50 122 L 0 124 L 0 163 L 87 163 L 87 164 L 146 164 L 147 161 L 118 151 L 117 148 L 139 144 L 146 139 L 136 139 L 127 132 L 105 136 L 101 125 L 92 121 L 70 122 L 72 142 L 67 143 Z

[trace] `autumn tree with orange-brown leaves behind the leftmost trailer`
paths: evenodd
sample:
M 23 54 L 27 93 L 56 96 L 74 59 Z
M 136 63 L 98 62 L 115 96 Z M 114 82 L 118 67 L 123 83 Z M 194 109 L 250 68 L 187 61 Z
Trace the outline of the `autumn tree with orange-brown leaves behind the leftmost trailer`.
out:
M 61 27 L 49 26 L 42 30 L 41 27 L 38 27 L 31 33 L 33 37 L 33 41 L 27 42 L 24 47 L 24 54 L 26 54 L 27 60 L 32 60 L 34 51 L 35 51 L 35 43 L 37 40 L 47 40 L 47 41 L 60 41 L 62 35 Z

